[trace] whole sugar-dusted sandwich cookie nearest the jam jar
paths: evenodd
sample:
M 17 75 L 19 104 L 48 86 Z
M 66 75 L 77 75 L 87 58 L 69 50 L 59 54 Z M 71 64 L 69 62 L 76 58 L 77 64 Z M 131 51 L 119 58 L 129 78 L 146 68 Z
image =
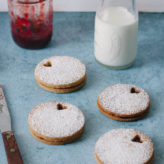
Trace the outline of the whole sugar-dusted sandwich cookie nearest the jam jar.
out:
M 86 67 L 73 57 L 54 56 L 42 60 L 36 66 L 34 75 L 40 87 L 56 93 L 67 93 L 85 84 Z

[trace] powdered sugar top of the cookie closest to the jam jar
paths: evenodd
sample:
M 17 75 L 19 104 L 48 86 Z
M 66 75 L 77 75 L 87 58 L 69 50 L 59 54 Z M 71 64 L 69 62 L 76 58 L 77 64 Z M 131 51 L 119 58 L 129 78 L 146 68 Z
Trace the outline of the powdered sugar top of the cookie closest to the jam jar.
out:
M 47 62 L 51 66 L 44 66 Z M 35 76 L 52 85 L 64 85 L 76 82 L 86 74 L 85 65 L 78 59 L 69 56 L 54 56 L 42 60 L 35 69 Z

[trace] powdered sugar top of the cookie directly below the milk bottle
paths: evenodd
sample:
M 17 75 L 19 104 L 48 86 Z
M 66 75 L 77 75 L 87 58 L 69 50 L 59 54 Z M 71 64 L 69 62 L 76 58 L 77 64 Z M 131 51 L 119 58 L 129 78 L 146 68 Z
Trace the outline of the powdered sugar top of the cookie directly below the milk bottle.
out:
M 139 93 L 131 93 L 132 88 Z M 104 89 L 98 100 L 105 110 L 125 115 L 145 111 L 150 103 L 149 95 L 143 89 L 129 84 L 116 84 Z

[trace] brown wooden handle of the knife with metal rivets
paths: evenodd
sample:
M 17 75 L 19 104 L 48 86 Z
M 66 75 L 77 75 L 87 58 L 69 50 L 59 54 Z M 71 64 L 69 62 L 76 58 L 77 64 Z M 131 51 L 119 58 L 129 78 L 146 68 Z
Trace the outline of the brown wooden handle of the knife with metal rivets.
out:
M 23 160 L 12 131 L 2 133 L 8 164 L 23 164 Z

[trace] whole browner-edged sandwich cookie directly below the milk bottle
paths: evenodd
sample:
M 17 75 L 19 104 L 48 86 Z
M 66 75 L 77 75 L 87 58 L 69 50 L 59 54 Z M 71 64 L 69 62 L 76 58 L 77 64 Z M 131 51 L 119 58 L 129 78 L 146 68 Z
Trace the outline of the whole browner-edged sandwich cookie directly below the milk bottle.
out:
M 119 121 L 135 121 L 143 118 L 150 107 L 149 95 L 141 88 L 129 84 L 115 84 L 98 96 L 99 110 Z

